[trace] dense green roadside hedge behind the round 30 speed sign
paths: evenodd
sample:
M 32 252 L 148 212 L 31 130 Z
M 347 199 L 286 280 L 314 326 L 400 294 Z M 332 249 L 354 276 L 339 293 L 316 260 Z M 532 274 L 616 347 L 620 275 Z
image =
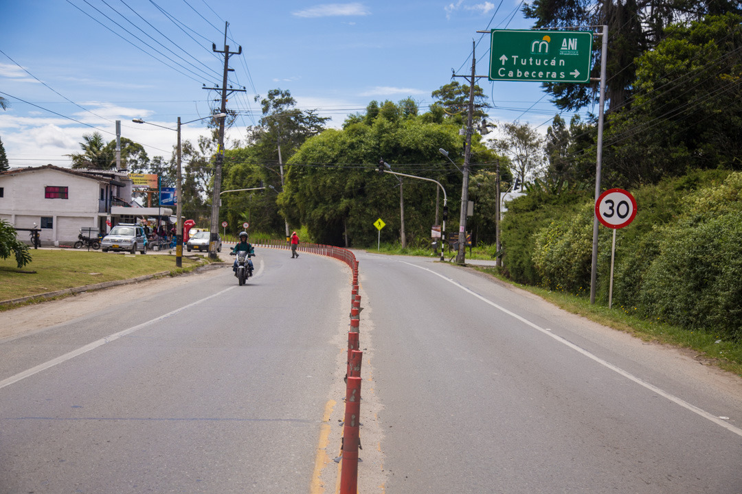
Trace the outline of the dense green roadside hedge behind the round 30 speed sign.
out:
M 614 305 L 742 339 L 742 173 L 709 170 L 631 191 L 617 230 Z M 554 196 L 554 195 L 552 195 Z M 593 201 L 536 193 L 503 221 L 505 273 L 571 293 L 590 286 Z M 612 230 L 600 227 L 597 300 L 608 301 Z

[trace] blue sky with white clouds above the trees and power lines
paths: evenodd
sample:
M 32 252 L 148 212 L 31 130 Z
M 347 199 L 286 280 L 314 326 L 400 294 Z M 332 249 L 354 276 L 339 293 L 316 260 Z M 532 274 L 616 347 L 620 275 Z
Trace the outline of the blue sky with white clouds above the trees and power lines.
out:
M 229 22 L 230 82 L 245 87 L 228 103 L 240 116 L 229 138 L 243 139 L 257 123 L 256 94 L 290 90 L 303 110 L 316 109 L 339 127 L 373 99 L 416 99 L 457 74 L 470 73 L 473 41 L 478 75 L 489 65 L 489 36 L 477 30 L 523 29 L 516 0 L 222 1 L 2 0 L 0 139 L 11 167 L 55 164 L 79 151 L 84 134 L 122 136 L 168 158 L 176 133 L 164 127 L 209 115 L 219 96 L 225 22 Z M 464 83 L 463 79 L 457 79 Z M 490 96 L 493 121 L 528 121 L 545 132 L 556 110 L 538 83 L 479 84 Z M 567 116 L 568 119 L 568 116 Z M 183 126 L 183 138 L 205 134 Z

